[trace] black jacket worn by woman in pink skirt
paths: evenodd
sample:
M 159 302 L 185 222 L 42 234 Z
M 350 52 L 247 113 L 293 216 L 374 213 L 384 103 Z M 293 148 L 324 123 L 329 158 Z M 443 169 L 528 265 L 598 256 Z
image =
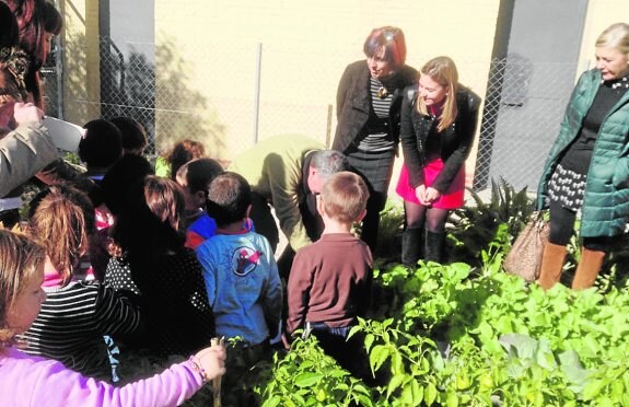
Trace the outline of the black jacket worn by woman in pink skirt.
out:
M 434 117 L 417 112 L 417 92 L 407 89 L 401 103 L 401 150 L 412 188 L 423 184 L 423 167 L 427 164 L 426 140 L 432 129 Z M 464 165 L 474 142 L 480 97 L 468 89 L 461 88 L 456 94 L 458 113 L 456 120 L 439 133 L 441 160 L 444 167 L 433 184 L 440 193 L 447 190 L 452 181 Z

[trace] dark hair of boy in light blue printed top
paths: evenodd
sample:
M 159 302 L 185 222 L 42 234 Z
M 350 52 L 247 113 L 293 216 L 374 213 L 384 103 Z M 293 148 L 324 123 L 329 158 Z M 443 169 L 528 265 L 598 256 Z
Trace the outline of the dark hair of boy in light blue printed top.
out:
M 245 219 L 251 205 L 252 188 L 242 175 L 224 172 L 210 184 L 207 211 L 219 228 Z

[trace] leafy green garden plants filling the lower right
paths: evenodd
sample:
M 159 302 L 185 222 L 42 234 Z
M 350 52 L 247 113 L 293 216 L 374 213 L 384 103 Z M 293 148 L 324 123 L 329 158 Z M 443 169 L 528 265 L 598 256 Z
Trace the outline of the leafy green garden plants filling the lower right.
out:
M 596 288 L 573 292 L 557 284 L 544 292 L 502 270 L 533 209 L 526 190 L 504 181 L 492 187 L 489 202 L 473 195 L 476 206 L 451 220 L 455 263 L 411 270 L 391 258 L 377 261 L 372 307 L 350 333 L 364 338 L 373 383 L 352 377 L 314 337 L 296 339 L 288 353 L 253 369 L 259 404 L 629 405 L 629 246 L 619 244 Z M 386 256 L 401 212 L 388 207 L 383 213 Z M 579 246 L 576 239 L 569 246 L 567 271 Z

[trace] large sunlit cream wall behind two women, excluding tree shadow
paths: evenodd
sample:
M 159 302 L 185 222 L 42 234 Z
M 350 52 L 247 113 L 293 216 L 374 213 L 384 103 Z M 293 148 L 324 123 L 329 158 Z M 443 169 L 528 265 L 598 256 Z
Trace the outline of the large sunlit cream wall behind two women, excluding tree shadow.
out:
M 462 81 L 482 95 L 498 5 L 498 0 L 196 0 L 185 7 L 156 1 L 155 37 L 185 62 L 179 89 L 201 92 L 202 119 L 216 131 L 208 143 L 229 158 L 252 143 L 257 44 L 263 49 L 260 139 L 301 132 L 325 141 L 342 70 L 364 58 L 362 44 L 376 26 L 405 31 L 407 62 L 416 68 L 438 55 L 453 57 Z M 165 54 L 158 65 L 177 66 Z M 167 107 L 167 97 L 158 100 Z M 158 131 L 170 126 L 159 120 Z

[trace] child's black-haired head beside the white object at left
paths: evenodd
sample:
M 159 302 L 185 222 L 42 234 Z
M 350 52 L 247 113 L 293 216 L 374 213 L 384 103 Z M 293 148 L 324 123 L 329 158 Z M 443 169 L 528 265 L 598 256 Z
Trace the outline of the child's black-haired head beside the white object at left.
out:
M 105 119 L 89 121 L 85 136 L 79 141 L 79 158 L 88 164 L 106 168 L 123 155 L 123 135 L 113 123 Z

